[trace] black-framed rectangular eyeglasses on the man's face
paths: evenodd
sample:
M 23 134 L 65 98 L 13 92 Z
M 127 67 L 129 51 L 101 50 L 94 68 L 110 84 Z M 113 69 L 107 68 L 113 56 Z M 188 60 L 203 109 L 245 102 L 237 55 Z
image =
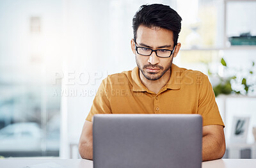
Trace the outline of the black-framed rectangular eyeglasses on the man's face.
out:
M 157 57 L 170 57 L 170 56 L 172 56 L 173 50 L 175 50 L 175 47 L 176 47 L 176 45 L 175 45 L 173 50 L 167 50 L 167 49 L 153 50 L 153 49 L 150 49 L 147 47 L 137 47 L 136 44 L 137 43 L 135 42 L 135 50 L 141 56 L 150 56 L 152 54 L 152 52 L 156 52 Z

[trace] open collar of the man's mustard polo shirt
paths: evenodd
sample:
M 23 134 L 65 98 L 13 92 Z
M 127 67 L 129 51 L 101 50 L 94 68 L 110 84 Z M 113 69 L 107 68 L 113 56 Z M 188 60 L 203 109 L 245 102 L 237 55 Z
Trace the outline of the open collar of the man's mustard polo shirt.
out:
M 133 80 L 133 85 L 132 85 L 132 91 L 147 91 L 147 88 L 143 85 L 143 83 L 140 80 L 140 75 L 139 75 L 139 68 L 136 66 L 132 72 L 132 80 Z M 171 77 L 168 80 L 166 86 L 164 88 L 167 89 L 180 89 L 180 68 L 177 65 L 172 64 L 172 73 Z

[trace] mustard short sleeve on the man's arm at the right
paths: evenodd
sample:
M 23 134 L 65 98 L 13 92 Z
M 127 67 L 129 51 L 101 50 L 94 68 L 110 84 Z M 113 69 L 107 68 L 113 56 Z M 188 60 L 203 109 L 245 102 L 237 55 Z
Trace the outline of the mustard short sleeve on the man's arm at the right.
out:
M 199 88 L 198 114 L 203 118 L 205 125 L 222 125 L 225 126 L 215 101 L 214 91 L 206 75 L 202 77 L 202 84 Z

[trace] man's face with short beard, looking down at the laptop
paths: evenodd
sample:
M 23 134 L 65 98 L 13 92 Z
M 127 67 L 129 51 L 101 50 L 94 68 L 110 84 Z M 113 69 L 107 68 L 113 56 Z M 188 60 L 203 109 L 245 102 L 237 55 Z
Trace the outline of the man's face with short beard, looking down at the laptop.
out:
M 152 52 L 151 56 L 141 56 L 135 50 L 134 40 L 131 41 L 131 45 L 132 51 L 136 55 L 136 64 L 140 69 L 140 72 L 148 80 L 161 79 L 164 73 L 170 70 L 173 57 L 177 56 L 177 52 L 172 54 L 170 57 L 157 57 L 156 52 Z M 148 47 L 153 50 L 173 50 L 173 32 L 159 27 L 149 28 L 146 26 L 139 26 L 137 31 L 136 46 Z

